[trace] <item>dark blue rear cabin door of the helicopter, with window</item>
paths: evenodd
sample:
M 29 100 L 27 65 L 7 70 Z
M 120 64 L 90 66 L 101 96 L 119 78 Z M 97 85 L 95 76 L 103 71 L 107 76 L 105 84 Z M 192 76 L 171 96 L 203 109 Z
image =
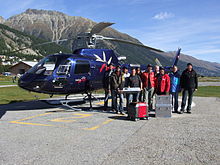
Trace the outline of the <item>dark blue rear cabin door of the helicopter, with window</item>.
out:
M 74 69 L 74 79 L 78 92 L 90 90 L 90 62 L 88 60 L 76 60 Z

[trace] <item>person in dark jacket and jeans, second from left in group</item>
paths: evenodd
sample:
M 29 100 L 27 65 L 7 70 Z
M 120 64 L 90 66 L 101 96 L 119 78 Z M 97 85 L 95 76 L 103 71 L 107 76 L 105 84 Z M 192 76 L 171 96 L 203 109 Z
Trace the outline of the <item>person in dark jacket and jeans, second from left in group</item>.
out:
M 111 75 L 111 93 L 112 93 L 112 109 L 116 111 L 116 113 L 121 113 L 124 115 L 124 107 L 123 107 L 123 80 L 122 80 L 122 72 L 120 66 L 117 66 L 115 72 Z M 117 98 L 119 97 L 119 106 Z

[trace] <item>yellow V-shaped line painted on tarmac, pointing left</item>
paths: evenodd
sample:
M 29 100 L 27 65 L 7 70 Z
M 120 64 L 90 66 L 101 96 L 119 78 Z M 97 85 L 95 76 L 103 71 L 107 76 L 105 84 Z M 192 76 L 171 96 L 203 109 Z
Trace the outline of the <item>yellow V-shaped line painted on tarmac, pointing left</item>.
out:
M 51 124 L 40 124 L 40 123 L 27 123 L 27 122 L 23 122 L 25 120 L 29 120 L 29 119 L 33 119 L 33 118 L 36 118 L 36 117 L 40 117 L 40 116 L 46 116 L 46 115 L 49 115 L 51 114 L 52 112 L 48 112 L 48 113 L 43 113 L 43 114 L 39 114 L 39 115 L 35 115 L 35 116 L 30 116 L 30 117 L 26 117 L 24 119 L 20 119 L 20 120 L 15 120 L 15 121 L 10 121 L 10 123 L 15 123 L 15 124 L 24 124 L 24 125 L 37 125 L 37 126 L 54 126 L 54 125 L 51 125 Z

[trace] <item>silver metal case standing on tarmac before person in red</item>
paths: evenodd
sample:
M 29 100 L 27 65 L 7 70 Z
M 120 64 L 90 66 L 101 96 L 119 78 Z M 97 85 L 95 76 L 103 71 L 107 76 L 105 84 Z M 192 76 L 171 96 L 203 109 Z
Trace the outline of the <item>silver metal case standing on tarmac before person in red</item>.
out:
M 155 106 L 155 117 L 172 117 L 172 96 L 157 95 Z

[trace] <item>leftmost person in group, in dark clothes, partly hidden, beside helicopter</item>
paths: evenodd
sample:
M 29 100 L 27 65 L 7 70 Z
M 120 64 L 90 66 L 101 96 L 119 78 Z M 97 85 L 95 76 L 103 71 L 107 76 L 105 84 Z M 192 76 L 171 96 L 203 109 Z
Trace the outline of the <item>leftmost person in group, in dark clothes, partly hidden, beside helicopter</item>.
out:
M 113 68 L 114 68 L 114 65 L 109 64 L 107 70 L 104 73 L 104 77 L 103 77 L 103 88 L 105 90 L 104 110 L 108 109 L 108 99 L 109 99 L 109 95 L 111 93 L 110 81 L 111 81 L 111 75 L 113 73 Z

